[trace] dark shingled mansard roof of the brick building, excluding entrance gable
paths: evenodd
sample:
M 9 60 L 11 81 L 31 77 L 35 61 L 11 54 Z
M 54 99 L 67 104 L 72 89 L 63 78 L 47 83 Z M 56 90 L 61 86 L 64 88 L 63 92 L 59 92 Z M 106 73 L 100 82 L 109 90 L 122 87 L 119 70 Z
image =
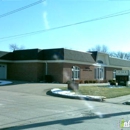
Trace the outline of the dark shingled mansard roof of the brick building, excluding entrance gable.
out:
M 98 52 L 80 52 L 64 48 L 57 49 L 27 49 L 13 52 L 0 51 L 0 60 L 68 60 L 93 64 Z M 130 67 L 129 60 L 109 57 L 110 66 Z

